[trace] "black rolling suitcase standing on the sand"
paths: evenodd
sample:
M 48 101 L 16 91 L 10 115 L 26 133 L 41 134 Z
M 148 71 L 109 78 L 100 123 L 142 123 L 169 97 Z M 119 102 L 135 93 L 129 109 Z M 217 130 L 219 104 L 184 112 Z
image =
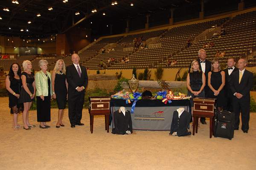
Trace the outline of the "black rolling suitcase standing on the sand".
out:
M 234 137 L 235 116 L 233 112 L 217 111 L 215 114 L 214 137 L 232 139 Z

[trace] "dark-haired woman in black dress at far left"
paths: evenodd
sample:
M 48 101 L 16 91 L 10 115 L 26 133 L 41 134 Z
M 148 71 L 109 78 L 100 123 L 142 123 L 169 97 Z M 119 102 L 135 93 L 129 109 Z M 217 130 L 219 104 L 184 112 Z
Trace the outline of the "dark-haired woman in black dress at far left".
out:
M 10 67 L 9 74 L 6 76 L 6 89 L 9 95 L 9 107 L 11 108 L 11 114 L 13 114 L 14 130 L 20 128 L 18 124 L 18 113 L 22 112 L 23 104 L 18 103 L 20 98 L 21 89 L 21 68 L 18 63 L 13 63 Z

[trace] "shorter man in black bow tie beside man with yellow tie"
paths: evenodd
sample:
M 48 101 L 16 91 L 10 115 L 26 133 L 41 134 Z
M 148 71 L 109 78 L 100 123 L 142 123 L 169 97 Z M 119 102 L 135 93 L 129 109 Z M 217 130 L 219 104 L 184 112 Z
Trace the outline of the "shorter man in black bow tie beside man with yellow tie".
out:
M 229 112 L 233 112 L 233 93 L 231 92 L 230 89 L 230 80 L 231 80 L 231 75 L 238 71 L 239 69 L 236 68 L 236 61 L 235 58 L 229 57 L 227 59 L 227 68 L 224 69 L 225 72 L 225 93 L 226 93 L 226 98 L 227 98 L 227 106 L 224 107 L 224 110 L 227 110 Z

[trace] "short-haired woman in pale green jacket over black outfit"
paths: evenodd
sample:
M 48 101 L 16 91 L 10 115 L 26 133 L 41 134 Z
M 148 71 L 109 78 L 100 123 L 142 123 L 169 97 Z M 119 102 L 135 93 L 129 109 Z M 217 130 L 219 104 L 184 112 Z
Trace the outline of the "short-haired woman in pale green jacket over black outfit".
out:
M 40 128 L 47 129 L 50 126 L 46 122 L 51 121 L 51 74 L 47 72 L 46 60 L 40 60 L 38 64 L 41 71 L 35 74 L 37 121 L 40 122 Z

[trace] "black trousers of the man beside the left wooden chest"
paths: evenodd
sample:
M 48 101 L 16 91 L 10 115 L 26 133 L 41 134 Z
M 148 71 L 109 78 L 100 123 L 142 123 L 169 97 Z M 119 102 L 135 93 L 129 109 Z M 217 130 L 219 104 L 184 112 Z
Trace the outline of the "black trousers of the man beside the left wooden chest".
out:
M 80 92 L 77 95 L 70 95 L 68 94 L 68 117 L 70 124 L 75 125 L 81 123 L 84 92 Z

